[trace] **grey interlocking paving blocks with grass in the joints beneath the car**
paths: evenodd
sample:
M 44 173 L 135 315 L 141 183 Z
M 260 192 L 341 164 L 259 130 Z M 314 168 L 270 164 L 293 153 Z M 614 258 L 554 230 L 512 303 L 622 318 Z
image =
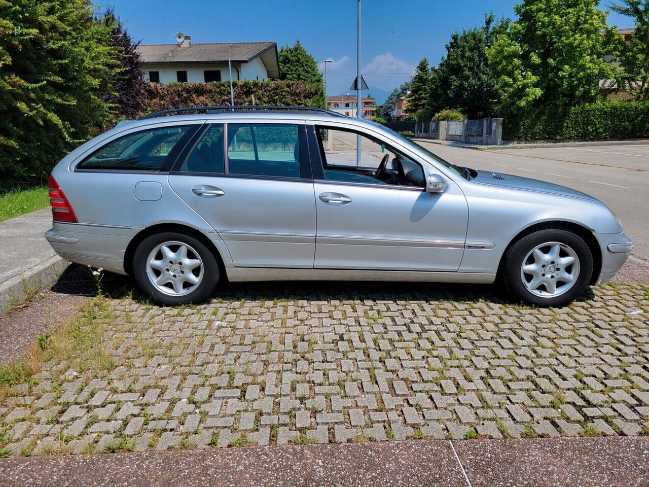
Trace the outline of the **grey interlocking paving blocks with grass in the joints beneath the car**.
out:
M 108 371 L 43 364 L 0 405 L 0 447 L 649 434 L 649 288 L 599 286 L 556 309 L 489 289 L 280 283 L 180 308 L 108 299 L 95 318 Z

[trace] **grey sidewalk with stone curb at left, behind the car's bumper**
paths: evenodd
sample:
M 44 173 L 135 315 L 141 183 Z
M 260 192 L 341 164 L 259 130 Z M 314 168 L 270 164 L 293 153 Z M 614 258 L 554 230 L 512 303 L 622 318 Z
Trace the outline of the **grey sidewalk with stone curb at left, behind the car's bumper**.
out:
M 56 279 L 67 267 L 43 234 L 52 227 L 52 211 L 43 208 L 0 222 L 0 315 Z

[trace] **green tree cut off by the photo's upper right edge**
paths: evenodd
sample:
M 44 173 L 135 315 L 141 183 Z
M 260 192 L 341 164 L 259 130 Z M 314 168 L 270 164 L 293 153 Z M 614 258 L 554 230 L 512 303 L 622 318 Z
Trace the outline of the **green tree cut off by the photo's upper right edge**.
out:
M 635 99 L 649 100 L 649 0 L 622 0 L 612 3 L 611 10 L 635 21 L 631 44 L 622 45 L 618 56 L 618 84 Z

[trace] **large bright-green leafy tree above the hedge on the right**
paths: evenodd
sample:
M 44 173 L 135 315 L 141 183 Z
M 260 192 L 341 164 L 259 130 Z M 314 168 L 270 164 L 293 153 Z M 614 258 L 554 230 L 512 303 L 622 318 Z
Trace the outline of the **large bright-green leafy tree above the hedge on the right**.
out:
M 599 82 L 615 77 L 604 59 L 614 37 L 598 0 L 525 0 L 518 19 L 487 49 L 502 94 L 500 113 L 531 106 L 570 106 L 597 98 Z

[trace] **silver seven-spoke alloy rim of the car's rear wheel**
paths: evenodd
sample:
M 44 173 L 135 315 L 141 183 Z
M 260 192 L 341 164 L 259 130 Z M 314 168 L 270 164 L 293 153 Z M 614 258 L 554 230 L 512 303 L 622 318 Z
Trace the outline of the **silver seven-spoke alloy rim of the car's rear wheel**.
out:
M 187 295 L 201 284 L 201 256 L 184 242 L 164 242 L 147 258 L 147 276 L 154 288 L 171 296 Z

